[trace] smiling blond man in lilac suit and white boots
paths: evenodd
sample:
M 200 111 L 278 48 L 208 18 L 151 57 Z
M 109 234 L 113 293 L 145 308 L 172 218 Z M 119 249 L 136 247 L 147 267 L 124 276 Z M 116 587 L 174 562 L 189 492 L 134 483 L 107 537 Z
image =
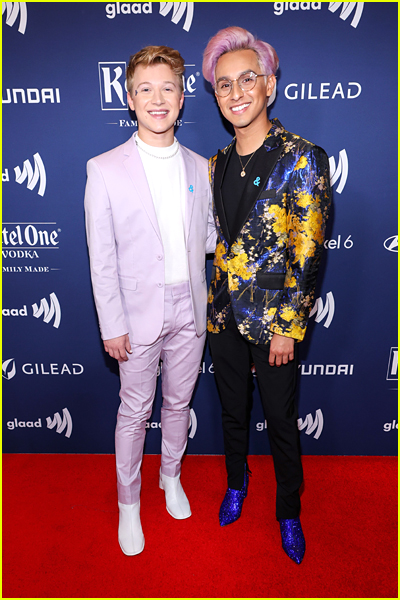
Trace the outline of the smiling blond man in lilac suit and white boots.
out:
M 132 56 L 128 104 L 138 131 L 87 165 L 93 294 L 104 348 L 120 368 L 118 540 L 130 556 L 144 548 L 140 468 L 160 359 L 159 485 L 172 517 L 191 515 L 180 482 L 181 459 L 204 348 L 205 255 L 215 249 L 215 229 L 207 161 L 174 138 L 183 71 L 184 61 L 172 48 L 147 46 Z

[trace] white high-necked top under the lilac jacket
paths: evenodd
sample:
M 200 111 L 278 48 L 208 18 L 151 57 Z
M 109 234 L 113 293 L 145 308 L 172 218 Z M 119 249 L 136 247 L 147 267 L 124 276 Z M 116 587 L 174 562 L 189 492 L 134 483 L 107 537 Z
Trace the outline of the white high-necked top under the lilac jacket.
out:
M 178 141 L 159 148 L 134 134 L 146 173 L 164 247 L 165 283 L 189 280 L 185 244 L 184 165 Z M 170 157 L 170 158 L 168 158 Z

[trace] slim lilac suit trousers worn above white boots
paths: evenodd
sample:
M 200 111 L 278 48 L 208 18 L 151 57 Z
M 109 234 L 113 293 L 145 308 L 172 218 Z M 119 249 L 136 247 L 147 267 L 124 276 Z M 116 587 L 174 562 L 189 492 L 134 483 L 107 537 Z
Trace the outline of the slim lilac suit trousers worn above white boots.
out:
M 140 497 L 140 467 L 146 421 L 153 407 L 160 358 L 162 364 L 161 472 L 180 474 L 189 429 L 189 402 L 199 374 L 205 333 L 196 334 L 189 283 L 165 286 L 164 325 L 150 346 L 131 344 L 129 360 L 120 362 L 121 404 L 115 430 L 118 501 Z

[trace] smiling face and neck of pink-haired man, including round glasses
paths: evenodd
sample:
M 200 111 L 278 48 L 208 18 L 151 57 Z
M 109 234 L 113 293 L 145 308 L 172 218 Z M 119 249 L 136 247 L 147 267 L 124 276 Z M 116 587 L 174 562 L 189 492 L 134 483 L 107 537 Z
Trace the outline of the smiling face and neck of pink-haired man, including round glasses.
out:
M 222 54 L 215 68 L 215 97 L 222 114 L 232 123 L 238 142 L 250 136 L 262 143 L 271 123 L 267 117 L 268 98 L 275 75 L 265 75 L 254 50 Z M 257 146 L 256 146 L 257 147 Z

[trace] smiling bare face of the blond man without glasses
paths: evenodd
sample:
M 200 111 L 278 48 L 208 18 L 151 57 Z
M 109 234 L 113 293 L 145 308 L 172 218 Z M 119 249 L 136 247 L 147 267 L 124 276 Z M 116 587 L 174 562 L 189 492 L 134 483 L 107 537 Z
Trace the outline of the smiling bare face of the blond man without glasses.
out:
M 174 123 L 183 105 L 177 76 L 166 64 L 138 65 L 128 104 L 135 111 L 140 139 L 150 146 L 170 146 Z

